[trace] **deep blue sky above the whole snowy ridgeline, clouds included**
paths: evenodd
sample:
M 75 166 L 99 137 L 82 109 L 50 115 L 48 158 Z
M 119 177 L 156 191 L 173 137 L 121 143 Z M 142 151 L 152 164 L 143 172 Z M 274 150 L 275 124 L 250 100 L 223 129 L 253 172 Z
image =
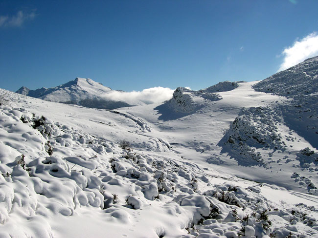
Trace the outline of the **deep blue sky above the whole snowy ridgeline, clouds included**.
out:
M 0 87 L 265 79 L 318 55 L 318 0 L 0 0 Z

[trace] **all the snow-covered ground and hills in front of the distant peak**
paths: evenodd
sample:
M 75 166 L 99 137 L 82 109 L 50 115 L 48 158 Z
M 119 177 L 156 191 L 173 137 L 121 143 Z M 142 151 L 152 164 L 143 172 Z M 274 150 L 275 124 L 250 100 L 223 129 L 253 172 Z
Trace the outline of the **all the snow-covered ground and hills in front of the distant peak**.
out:
M 0 237 L 318 237 L 315 65 L 117 110 L 0 89 Z

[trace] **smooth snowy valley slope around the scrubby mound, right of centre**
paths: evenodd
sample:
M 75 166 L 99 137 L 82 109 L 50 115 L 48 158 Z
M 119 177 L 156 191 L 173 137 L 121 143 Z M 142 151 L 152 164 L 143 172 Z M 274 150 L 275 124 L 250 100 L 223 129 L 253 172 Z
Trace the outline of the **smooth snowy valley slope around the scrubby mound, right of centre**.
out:
M 289 99 L 255 92 L 253 84 L 239 83 L 232 91 L 219 92 L 221 100 L 203 101 L 190 114 L 176 114 L 164 105 L 120 111 L 146 119 L 185 159 L 202 166 L 210 163 L 220 172 L 246 179 L 317 194 L 316 157 L 308 158 L 311 162 L 303 166 L 298 156 L 307 147 L 316 149 L 286 125 L 280 106 Z

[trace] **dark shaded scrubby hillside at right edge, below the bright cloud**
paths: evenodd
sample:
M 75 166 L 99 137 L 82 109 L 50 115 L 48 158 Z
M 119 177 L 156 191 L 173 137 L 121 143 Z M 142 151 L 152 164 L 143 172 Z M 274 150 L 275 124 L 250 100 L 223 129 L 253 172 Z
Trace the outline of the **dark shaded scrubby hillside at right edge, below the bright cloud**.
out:
M 285 96 L 280 105 L 286 124 L 318 149 L 318 56 L 255 84 L 256 91 Z

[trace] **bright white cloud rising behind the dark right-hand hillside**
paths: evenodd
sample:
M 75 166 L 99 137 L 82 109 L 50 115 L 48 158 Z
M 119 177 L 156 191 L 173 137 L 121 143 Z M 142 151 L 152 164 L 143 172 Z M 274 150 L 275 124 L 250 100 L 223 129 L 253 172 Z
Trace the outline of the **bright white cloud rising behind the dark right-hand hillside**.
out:
M 294 44 L 283 50 L 284 60 L 278 71 L 288 69 L 297 63 L 318 55 L 318 35 L 313 32 L 301 40 L 295 40 Z

